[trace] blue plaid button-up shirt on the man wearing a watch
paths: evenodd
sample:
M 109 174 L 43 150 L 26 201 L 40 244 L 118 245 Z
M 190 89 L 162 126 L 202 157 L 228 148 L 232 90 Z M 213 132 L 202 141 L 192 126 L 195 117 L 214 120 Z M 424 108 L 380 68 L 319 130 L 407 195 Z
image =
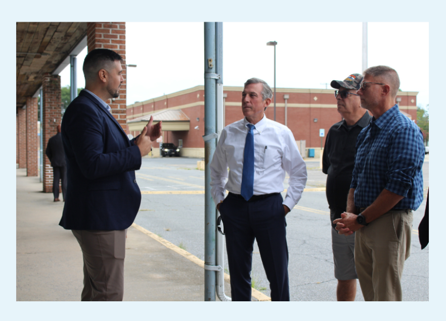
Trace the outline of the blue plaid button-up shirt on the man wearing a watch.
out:
M 393 209 L 417 209 L 423 201 L 423 134 L 394 105 L 372 118 L 356 140 L 354 205 L 367 207 L 383 189 L 405 196 Z

